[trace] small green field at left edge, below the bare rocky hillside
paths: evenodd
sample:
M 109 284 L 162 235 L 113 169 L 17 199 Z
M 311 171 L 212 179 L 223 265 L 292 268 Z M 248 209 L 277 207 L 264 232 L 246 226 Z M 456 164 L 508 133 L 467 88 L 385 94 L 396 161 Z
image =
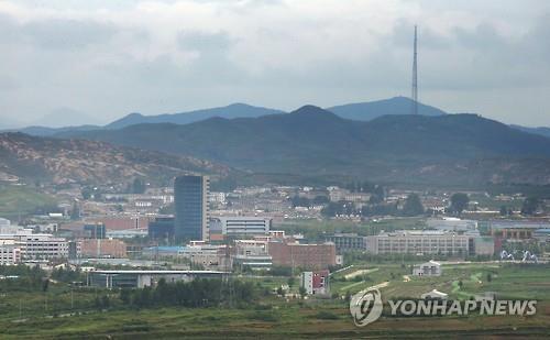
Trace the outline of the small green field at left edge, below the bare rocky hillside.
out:
M 55 207 L 56 200 L 26 186 L 0 184 L 0 217 L 18 219 L 40 207 Z

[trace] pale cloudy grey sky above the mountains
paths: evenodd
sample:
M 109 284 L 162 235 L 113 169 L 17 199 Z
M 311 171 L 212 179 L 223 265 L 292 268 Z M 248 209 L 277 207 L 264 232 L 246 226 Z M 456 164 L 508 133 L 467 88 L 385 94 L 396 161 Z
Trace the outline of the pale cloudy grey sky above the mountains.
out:
M 421 102 L 550 127 L 547 0 L 0 0 L 0 125 L 408 97 L 415 24 Z

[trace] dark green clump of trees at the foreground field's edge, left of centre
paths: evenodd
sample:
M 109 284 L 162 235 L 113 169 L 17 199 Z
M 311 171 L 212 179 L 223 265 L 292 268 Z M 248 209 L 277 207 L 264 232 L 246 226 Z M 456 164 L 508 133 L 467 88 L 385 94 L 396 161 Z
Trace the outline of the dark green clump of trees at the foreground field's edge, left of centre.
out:
M 120 300 L 130 307 L 217 307 L 243 306 L 253 303 L 258 288 L 251 282 L 233 281 L 232 284 L 221 279 L 194 279 L 191 282 L 166 283 L 160 279 L 154 287 L 138 289 L 124 288 L 120 292 Z

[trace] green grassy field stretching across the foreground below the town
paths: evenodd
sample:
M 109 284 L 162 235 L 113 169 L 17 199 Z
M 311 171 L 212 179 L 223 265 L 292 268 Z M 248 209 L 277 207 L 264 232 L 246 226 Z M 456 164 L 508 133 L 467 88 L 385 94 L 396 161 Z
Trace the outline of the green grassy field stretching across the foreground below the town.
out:
M 345 275 L 360 272 L 356 279 L 343 282 Z M 50 289 L 33 293 L 0 294 L 1 338 L 56 339 L 151 339 L 151 338 L 417 338 L 469 337 L 494 334 L 524 337 L 550 336 L 550 266 L 472 263 L 444 265 L 443 275 L 435 278 L 409 277 L 408 265 L 358 265 L 333 275 L 332 293 L 344 295 L 386 283 L 384 299 L 419 297 L 437 288 L 450 298 L 464 299 L 483 292 L 495 292 L 497 298 L 538 299 L 537 315 L 391 317 L 364 328 L 353 325 L 348 303 L 341 298 L 287 299 L 263 296 L 242 308 L 150 308 L 122 306 L 117 292 L 72 289 L 52 284 Z M 487 281 L 491 274 L 491 282 Z M 285 277 L 248 277 L 265 288 L 284 284 Z M 462 286 L 458 282 L 462 281 Z M 349 287 L 352 285 L 351 287 Z M 458 287 L 458 288 L 457 288 Z M 95 307 L 96 297 L 109 295 L 108 307 Z M 47 303 L 45 301 L 47 298 Z M 21 309 L 20 309 L 21 308 Z

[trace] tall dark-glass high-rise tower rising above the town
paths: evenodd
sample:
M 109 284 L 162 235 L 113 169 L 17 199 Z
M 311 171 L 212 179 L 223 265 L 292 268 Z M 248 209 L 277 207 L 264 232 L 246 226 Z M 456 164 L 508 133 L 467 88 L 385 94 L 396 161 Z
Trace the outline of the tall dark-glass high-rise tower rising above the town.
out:
M 207 176 L 179 176 L 174 182 L 176 239 L 208 240 Z

